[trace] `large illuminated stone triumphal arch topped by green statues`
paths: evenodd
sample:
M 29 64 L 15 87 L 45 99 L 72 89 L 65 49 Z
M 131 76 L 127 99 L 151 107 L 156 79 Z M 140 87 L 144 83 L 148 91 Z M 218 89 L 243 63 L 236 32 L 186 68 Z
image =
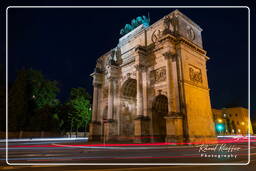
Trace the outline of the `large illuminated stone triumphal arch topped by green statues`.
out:
M 202 29 L 175 10 L 142 16 L 96 61 L 91 140 L 195 142 L 215 139 Z

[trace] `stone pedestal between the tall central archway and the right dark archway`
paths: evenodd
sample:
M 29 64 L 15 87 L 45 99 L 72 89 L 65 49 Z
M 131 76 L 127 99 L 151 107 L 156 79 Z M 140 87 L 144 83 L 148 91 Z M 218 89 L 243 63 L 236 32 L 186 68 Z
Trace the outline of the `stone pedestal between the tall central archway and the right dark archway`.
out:
M 149 117 L 139 116 L 134 120 L 134 142 L 150 142 Z

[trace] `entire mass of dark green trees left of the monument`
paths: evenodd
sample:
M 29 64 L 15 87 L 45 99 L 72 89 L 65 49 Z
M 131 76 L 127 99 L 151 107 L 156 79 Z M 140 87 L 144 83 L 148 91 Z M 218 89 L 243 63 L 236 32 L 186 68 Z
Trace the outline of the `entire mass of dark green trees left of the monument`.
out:
M 9 130 L 85 131 L 92 115 L 89 94 L 72 88 L 69 100 L 61 104 L 58 93 L 58 83 L 40 71 L 20 70 L 9 91 Z

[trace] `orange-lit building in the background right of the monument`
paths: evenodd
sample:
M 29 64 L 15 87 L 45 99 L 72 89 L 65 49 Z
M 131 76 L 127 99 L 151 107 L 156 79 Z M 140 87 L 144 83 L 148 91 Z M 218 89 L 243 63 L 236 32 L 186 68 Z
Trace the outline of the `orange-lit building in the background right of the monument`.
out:
M 244 107 L 212 109 L 212 113 L 218 135 L 253 134 L 248 109 Z

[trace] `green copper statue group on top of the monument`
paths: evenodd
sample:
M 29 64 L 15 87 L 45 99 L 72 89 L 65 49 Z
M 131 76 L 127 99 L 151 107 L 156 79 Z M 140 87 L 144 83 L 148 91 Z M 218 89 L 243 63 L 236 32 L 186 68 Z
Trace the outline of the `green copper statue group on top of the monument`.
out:
M 138 16 L 136 19 L 132 19 L 131 24 L 126 24 L 124 26 L 124 28 L 122 28 L 120 30 L 120 34 L 123 36 L 123 35 L 129 33 L 130 31 L 132 31 L 133 29 L 135 29 L 136 27 L 138 27 L 141 24 L 143 24 L 145 27 L 148 27 L 149 22 L 150 22 L 149 16 L 148 17 L 146 17 L 144 15 L 142 17 Z

